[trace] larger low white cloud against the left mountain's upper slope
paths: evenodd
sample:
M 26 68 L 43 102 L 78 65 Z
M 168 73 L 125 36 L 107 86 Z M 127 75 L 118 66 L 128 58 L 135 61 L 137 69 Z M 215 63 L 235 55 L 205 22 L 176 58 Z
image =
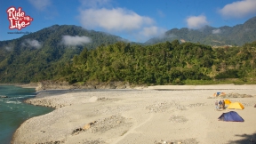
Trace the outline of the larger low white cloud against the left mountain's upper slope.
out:
M 64 45 L 83 45 L 91 43 L 92 39 L 87 36 L 62 36 L 61 44 Z

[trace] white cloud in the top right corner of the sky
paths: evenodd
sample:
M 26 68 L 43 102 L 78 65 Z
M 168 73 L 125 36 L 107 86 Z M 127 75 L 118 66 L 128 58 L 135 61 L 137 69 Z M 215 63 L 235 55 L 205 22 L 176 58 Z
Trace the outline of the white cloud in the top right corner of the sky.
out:
M 256 0 L 242 0 L 227 4 L 219 12 L 222 16 L 231 18 L 242 18 L 249 14 L 255 14 Z

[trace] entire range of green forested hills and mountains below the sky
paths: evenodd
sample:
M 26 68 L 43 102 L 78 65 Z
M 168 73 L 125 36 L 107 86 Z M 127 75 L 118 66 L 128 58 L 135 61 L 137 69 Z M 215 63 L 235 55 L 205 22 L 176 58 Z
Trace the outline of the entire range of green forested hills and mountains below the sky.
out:
M 165 39 L 144 44 L 77 26 L 54 25 L 0 41 L 0 83 L 252 84 L 255 23 L 256 17 L 233 28 L 222 27 L 218 35 L 212 34 L 215 28 L 211 27 L 203 31 L 174 28 Z M 81 38 L 88 41 L 82 43 Z M 216 48 L 212 42 L 222 46 Z

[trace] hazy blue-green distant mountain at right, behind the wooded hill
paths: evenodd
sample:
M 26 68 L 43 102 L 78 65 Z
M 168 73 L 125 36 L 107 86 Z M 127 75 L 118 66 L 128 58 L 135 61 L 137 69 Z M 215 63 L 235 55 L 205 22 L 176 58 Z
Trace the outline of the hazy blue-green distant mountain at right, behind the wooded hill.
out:
M 149 39 L 145 44 L 156 44 L 179 39 L 180 42 L 192 42 L 207 45 L 239 45 L 252 43 L 256 40 L 256 17 L 234 27 L 212 28 L 205 26 L 201 29 L 173 28 L 164 36 Z

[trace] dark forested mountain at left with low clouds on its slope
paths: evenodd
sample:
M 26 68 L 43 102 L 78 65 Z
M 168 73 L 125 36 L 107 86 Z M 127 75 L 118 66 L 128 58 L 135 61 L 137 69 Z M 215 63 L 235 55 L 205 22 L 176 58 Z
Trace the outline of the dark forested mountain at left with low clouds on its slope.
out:
M 119 36 L 81 27 L 54 25 L 18 39 L 1 41 L 0 82 L 28 83 L 51 79 L 84 47 L 92 49 L 120 40 Z

